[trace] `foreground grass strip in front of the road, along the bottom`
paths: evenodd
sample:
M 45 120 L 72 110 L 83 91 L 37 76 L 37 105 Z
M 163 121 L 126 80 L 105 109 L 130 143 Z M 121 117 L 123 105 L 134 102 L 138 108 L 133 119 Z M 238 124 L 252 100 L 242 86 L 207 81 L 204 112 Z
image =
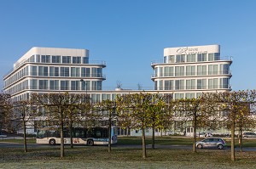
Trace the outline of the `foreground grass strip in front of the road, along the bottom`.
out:
M 108 146 L 65 147 L 60 158 L 60 146 L 23 149 L 0 148 L 0 168 L 256 168 L 255 152 L 236 152 L 236 161 L 230 161 L 230 151 L 223 149 L 142 149 Z

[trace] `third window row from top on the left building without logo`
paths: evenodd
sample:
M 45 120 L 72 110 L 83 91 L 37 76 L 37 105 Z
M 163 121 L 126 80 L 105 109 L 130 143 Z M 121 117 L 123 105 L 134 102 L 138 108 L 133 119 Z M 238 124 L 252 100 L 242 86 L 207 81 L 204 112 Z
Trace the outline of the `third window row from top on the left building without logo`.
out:
M 102 81 L 67 81 L 67 80 L 26 80 L 10 87 L 6 92 L 18 93 L 26 89 L 38 90 L 102 90 Z

